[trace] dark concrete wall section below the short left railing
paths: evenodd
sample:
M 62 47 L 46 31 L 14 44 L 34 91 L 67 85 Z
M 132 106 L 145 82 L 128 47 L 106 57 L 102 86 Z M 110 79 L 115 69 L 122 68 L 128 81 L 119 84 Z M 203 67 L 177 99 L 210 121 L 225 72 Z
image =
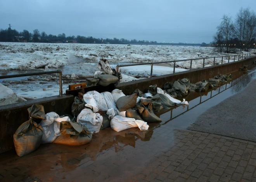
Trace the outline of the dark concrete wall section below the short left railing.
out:
M 27 109 L 33 104 L 43 105 L 45 114 L 56 112 L 62 115 L 71 114 L 73 101 L 73 95 L 66 95 L 64 97 L 53 96 L 0 106 L 0 153 L 14 149 L 13 134 L 23 122 L 28 121 Z M 36 122 L 40 122 L 40 120 Z

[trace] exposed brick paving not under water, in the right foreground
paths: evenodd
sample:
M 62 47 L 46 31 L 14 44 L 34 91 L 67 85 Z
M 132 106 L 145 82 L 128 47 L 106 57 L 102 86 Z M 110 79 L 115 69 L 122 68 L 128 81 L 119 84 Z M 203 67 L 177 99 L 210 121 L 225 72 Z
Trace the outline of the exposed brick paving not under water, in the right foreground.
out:
M 256 143 L 180 130 L 176 145 L 156 156 L 133 181 L 256 182 Z

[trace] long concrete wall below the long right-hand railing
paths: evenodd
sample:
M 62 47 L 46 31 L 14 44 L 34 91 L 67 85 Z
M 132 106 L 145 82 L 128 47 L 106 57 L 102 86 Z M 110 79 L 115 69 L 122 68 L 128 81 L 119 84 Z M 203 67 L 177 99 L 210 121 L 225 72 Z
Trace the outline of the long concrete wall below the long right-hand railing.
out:
M 239 68 L 242 68 L 244 66 L 248 66 L 248 69 L 251 69 L 254 60 L 256 60 L 256 58 L 247 58 L 241 61 L 225 63 L 222 65 L 215 65 L 206 68 L 199 68 L 192 71 L 183 71 L 175 74 L 135 80 L 127 83 L 120 83 L 119 85 L 116 85 L 115 88 L 122 90 L 125 95 L 131 95 L 136 88 L 145 93 L 147 92 L 150 85 L 157 84 L 157 87 L 163 88 L 164 83 L 174 82 L 178 79 L 181 80 L 183 78 L 189 78 L 191 83 L 195 83 L 205 79 L 208 80 L 209 78 L 213 78 L 215 75 L 218 75 L 220 73 L 229 74 L 234 71 L 238 71 Z

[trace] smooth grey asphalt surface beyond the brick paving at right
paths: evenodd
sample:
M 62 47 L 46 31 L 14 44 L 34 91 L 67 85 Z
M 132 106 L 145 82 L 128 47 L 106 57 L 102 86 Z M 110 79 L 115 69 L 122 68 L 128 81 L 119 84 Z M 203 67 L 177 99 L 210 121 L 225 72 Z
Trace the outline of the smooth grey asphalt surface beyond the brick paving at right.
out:
M 252 81 L 247 85 L 250 80 Z M 233 89 L 246 85 L 242 92 L 202 113 L 188 129 L 256 141 L 255 73 L 247 75 Z

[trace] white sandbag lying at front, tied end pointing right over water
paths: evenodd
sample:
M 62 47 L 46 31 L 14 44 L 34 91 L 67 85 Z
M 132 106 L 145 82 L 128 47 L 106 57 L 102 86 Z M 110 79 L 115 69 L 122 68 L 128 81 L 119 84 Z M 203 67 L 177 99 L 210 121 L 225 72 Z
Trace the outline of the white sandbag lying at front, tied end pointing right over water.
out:
M 138 124 L 137 124 L 138 123 Z M 110 126 L 114 131 L 123 131 L 129 128 L 136 128 L 140 126 L 141 130 L 147 130 L 149 126 L 144 121 L 135 120 L 134 118 L 115 116 L 111 119 Z

